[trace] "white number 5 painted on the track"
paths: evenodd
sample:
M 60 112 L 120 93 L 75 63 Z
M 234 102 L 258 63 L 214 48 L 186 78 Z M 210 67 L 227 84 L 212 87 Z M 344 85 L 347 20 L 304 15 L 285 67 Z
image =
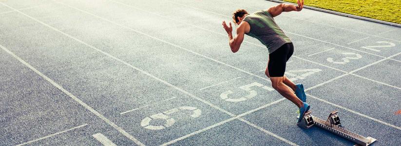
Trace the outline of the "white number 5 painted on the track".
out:
M 270 88 L 270 87 L 268 87 L 268 86 L 264 86 L 264 85 L 261 84 L 261 83 L 253 82 L 253 83 L 249 83 L 249 84 L 246 84 L 246 85 L 243 85 L 243 86 L 240 86 L 240 87 L 239 87 L 240 89 L 245 90 L 245 91 L 247 91 L 247 92 L 249 93 L 249 94 L 248 94 L 247 96 L 245 96 L 245 97 L 240 97 L 240 98 L 229 98 L 229 94 L 232 94 L 232 93 L 234 93 L 234 92 L 232 92 L 231 90 L 228 90 L 228 91 L 226 91 L 226 92 L 221 93 L 221 94 L 220 94 L 220 98 L 223 99 L 223 100 L 225 100 L 225 101 L 228 101 L 228 102 L 242 102 L 242 101 L 246 101 L 246 100 L 248 100 L 248 99 L 251 99 L 251 98 L 255 97 L 255 96 L 258 94 L 255 90 L 252 90 L 252 89 L 250 88 L 250 87 L 252 87 L 252 86 L 262 87 L 262 88 L 264 88 L 264 89 L 266 89 L 266 90 L 268 90 L 268 91 L 273 91 L 273 90 L 274 90 L 273 88 Z

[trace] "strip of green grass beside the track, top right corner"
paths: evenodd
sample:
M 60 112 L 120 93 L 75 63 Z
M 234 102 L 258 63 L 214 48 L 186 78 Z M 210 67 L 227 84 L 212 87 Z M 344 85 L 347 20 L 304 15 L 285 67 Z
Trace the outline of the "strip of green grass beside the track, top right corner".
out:
M 401 24 L 401 0 L 305 0 L 304 5 Z

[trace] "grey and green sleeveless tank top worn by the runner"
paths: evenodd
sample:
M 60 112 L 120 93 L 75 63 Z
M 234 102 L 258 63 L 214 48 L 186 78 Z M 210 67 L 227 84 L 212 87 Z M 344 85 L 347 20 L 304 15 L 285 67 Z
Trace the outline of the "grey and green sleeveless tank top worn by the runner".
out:
M 291 42 L 267 10 L 248 14 L 243 21 L 250 25 L 250 30 L 246 34 L 262 42 L 267 47 L 269 54 L 283 44 Z

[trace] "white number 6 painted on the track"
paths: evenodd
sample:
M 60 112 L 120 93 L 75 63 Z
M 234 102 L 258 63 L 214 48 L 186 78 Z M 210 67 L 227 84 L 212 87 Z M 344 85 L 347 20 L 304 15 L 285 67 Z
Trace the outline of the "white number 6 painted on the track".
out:
M 192 111 L 192 114 L 190 115 L 192 118 L 197 118 L 201 115 L 202 111 L 196 107 L 192 107 L 192 106 L 181 106 L 178 108 L 173 108 L 161 113 L 157 113 L 154 114 L 152 116 L 146 117 L 141 121 L 141 126 L 146 128 L 146 129 L 150 129 L 150 130 L 161 130 L 167 127 L 171 127 L 172 125 L 174 125 L 175 120 L 170 117 L 169 115 L 175 112 L 180 112 L 183 110 L 190 110 Z M 164 125 L 151 125 L 151 121 L 155 120 L 155 119 L 162 119 L 165 120 L 165 124 Z

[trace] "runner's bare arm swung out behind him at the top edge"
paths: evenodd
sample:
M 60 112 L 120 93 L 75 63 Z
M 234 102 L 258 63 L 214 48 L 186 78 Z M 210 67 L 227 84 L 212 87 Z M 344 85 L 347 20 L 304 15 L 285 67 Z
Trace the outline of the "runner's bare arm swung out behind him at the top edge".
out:
M 304 8 L 304 0 L 297 0 L 298 6 L 288 3 L 280 3 L 276 6 L 272 6 L 267 11 L 270 13 L 272 17 L 276 17 L 280 15 L 282 12 L 291 12 L 291 11 L 301 11 Z

